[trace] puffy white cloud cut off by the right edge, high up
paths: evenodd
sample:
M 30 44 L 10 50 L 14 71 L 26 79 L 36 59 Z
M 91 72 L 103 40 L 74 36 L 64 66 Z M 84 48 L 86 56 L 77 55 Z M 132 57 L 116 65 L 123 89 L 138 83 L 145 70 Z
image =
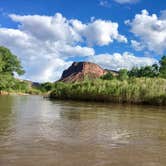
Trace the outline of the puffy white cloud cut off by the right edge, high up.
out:
M 131 26 L 131 32 L 140 39 L 141 45 L 150 51 L 163 54 L 166 51 L 166 17 L 150 15 L 147 10 L 136 14 L 132 21 L 126 21 Z

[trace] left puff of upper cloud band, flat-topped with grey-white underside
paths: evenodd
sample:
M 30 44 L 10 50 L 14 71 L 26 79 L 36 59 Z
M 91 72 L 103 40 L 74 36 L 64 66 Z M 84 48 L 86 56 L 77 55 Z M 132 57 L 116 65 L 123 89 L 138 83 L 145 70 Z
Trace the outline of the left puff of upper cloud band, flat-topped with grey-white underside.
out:
M 69 20 L 60 13 L 55 14 L 53 17 L 11 14 L 10 18 L 13 21 L 21 23 L 19 26 L 21 31 L 44 41 L 80 41 L 80 36 L 69 25 Z

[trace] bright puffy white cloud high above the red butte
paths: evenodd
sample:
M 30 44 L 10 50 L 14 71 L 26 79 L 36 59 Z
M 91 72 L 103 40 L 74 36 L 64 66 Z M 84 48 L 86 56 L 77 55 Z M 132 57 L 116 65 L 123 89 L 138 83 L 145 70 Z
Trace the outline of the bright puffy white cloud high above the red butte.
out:
M 105 20 L 93 20 L 88 24 L 82 24 L 78 20 L 70 21 L 73 29 L 86 39 L 88 45 L 104 46 L 112 43 L 114 40 L 127 43 L 127 38 L 118 32 L 118 23 Z

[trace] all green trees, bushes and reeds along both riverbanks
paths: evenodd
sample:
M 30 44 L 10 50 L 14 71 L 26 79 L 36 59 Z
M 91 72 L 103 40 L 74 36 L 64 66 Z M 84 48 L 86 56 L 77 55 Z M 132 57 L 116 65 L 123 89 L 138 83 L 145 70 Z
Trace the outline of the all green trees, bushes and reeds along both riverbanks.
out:
M 159 64 L 108 72 L 96 80 L 76 83 L 46 82 L 33 87 L 31 82 L 16 79 L 24 74 L 19 59 L 9 49 L 0 47 L 0 94 L 2 92 L 48 94 L 51 98 L 166 105 L 166 56 Z

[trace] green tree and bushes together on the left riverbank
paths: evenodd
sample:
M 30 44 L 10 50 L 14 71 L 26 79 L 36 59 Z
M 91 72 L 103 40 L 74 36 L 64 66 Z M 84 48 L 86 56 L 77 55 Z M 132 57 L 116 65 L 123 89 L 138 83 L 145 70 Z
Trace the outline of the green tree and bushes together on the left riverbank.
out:
M 6 92 L 38 94 L 39 91 L 33 88 L 29 82 L 14 77 L 15 74 L 24 73 L 17 56 L 13 55 L 9 49 L 0 46 L 0 94 Z

